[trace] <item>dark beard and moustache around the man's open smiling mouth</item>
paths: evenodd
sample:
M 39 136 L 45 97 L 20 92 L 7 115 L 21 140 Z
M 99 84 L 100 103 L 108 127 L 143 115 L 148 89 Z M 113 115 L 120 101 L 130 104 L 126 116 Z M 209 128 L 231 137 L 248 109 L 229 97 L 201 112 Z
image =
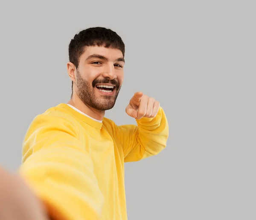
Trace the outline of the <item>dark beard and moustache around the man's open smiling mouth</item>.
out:
M 115 85 L 116 95 L 115 96 L 104 96 L 102 95 L 100 98 L 96 97 L 95 89 L 96 84 L 99 83 L 110 83 Z M 114 107 L 116 103 L 116 98 L 118 93 L 121 89 L 119 82 L 116 80 L 109 80 L 108 78 L 99 79 L 96 78 L 93 80 L 92 84 L 86 81 L 84 78 L 81 77 L 79 71 L 77 71 L 77 79 L 76 79 L 76 87 L 77 87 L 77 94 L 79 98 L 86 104 L 96 110 L 105 111 L 110 110 Z

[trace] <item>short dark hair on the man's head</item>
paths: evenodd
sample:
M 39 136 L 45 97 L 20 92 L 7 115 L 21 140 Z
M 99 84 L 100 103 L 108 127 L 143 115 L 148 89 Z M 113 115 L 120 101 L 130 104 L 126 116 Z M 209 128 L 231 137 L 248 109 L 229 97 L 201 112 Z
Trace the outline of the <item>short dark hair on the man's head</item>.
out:
M 68 52 L 69 60 L 76 68 L 79 66 L 79 58 L 87 46 L 105 46 L 121 50 L 125 57 L 125 44 L 122 38 L 111 29 L 104 27 L 91 27 L 82 30 L 70 41 Z M 72 81 L 73 94 L 73 81 Z M 71 95 L 72 96 L 72 95 Z

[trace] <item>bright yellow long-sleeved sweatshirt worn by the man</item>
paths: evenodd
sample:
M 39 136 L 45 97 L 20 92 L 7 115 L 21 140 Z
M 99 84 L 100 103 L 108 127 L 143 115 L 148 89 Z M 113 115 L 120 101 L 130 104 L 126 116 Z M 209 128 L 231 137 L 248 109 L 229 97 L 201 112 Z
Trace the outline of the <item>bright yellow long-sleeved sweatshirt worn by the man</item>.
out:
M 127 220 L 124 162 L 158 154 L 168 135 L 161 107 L 137 126 L 117 126 L 61 103 L 30 124 L 19 172 L 54 220 Z

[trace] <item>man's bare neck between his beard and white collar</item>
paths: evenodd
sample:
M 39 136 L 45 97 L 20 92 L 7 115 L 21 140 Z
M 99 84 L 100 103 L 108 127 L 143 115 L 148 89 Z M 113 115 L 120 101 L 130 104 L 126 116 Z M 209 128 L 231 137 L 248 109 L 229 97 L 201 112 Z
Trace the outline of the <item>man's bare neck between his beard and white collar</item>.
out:
M 87 116 L 92 117 L 93 119 L 102 121 L 102 119 L 105 116 L 105 111 L 96 110 L 86 104 L 76 95 L 73 94 L 70 101 L 67 102 L 67 104 L 70 104 L 74 107 L 76 107 L 78 110 L 86 114 Z

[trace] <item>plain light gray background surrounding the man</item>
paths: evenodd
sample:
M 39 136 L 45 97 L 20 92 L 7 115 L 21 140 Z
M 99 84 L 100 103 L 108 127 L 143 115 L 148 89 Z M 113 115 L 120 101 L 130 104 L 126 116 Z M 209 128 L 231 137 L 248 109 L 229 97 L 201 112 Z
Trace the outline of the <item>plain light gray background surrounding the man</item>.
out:
M 129 220 L 256 219 L 255 1 L 0 3 L 0 164 L 15 171 L 32 119 L 71 94 L 68 44 L 105 26 L 126 45 L 116 124 L 143 91 L 169 120 L 167 148 L 125 165 Z

